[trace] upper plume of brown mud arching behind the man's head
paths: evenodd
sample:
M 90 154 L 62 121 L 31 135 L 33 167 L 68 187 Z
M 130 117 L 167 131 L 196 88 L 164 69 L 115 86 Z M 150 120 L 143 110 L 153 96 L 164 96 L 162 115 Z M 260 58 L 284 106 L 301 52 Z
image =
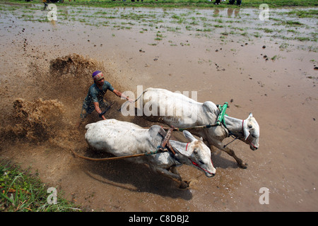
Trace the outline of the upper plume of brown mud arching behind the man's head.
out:
M 123 85 L 116 76 L 114 69 L 105 67 L 104 62 L 79 54 L 68 54 L 64 57 L 52 59 L 49 63 L 49 76 L 44 81 L 42 89 L 46 90 L 48 97 L 56 97 L 71 108 L 76 109 L 66 112 L 69 117 L 74 113 L 79 114 L 83 99 L 86 97 L 88 88 L 92 85 L 92 73 L 102 71 L 105 80 L 109 81 L 114 88 L 122 90 Z M 47 86 L 47 82 L 51 85 Z M 107 95 L 107 102 L 115 102 L 114 107 L 119 107 L 119 99 L 115 95 Z M 80 107 L 78 107 L 80 105 Z

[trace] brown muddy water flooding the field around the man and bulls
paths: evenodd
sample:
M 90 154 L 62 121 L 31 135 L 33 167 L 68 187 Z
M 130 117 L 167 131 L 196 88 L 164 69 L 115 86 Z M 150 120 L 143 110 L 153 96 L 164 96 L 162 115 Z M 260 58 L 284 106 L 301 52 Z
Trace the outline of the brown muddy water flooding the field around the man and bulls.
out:
M 49 23 L 40 5 L 1 6 L 1 157 L 31 166 L 88 211 L 317 211 L 317 18 L 280 14 L 292 9 L 260 21 L 257 10 L 245 8 L 61 7 Z M 143 165 L 75 158 L 70 148 L 103 156 L 86 150 L 83 127 L 73 129 L 96 69 L 121 91 L 137 95 L 140 85 L 197 91 L 200 102 L 229 102 L 231 117 L 252 112 L 260 148 L 230 144 L 247 169 L 213 150 L 212 179 L 181 167 L 192 182 L 187 190 Z M 116 103 L 107 117 L 149 125 L 123 117 L 117 112 L 123 100 L 107 97 Z M 86 123 L 98 120 L 93 114 Z M 262 187 L 269 204 L 259 203 Z

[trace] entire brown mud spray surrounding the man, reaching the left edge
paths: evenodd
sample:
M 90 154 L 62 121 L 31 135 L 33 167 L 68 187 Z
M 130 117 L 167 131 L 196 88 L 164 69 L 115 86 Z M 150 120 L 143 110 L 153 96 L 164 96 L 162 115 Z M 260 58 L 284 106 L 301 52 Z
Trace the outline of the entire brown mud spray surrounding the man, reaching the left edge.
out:
M 115 88 L 123 89 L 114 78 L 113 71 L 105 68 L 102 62 L 78 54 L 53 59 L 49 62 L 49 69 L 36 63 L 30 64 L 27 77 L 32 78 L 35 85 L 20 88 L 24 89 L 23 98 L 11 97 L 14 100 L 11 107 L 6 107 L 6 117 L 1 124 L 1 143 L 30 142 L 65 148 L 71 141 L 82 141 L 83 128 L 76 131 L 74 124 L 93 83 L 91 74 L 96 70 L 103 71 L 107 81 Z M 6 89 L 2 92 L 4 95 Z M 7 93 L 10 93 L 9 90 Z M 115 117 L 119 114 L 115 109 L 123 100 L 109 92 L 107 101 L 115 102 L 113 110 L 108 112 L 108 117 Z M 98 120 L 98 115 L 92 114 L 85 124 Z

